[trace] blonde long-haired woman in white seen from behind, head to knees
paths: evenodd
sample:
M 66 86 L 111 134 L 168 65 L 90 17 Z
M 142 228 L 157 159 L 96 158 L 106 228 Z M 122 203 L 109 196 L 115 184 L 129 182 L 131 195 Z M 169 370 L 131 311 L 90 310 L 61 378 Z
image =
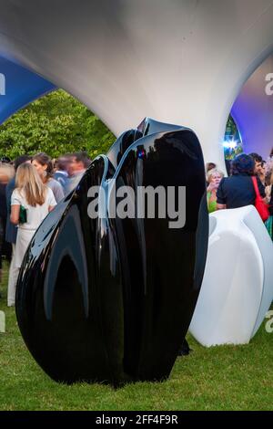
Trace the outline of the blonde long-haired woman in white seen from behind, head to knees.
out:
M 42 183 L 35 167 L 29 163 L 21 164 L 16 172 L 15 190 L 11 197 L 10 220 L 18 225 L 15 246 L 15 267 L 21 267 L 25 251 L 45 216 L 53 210 L 56 199 L 50 188 Z M 24 220 L 20 220 L 25 212 Z

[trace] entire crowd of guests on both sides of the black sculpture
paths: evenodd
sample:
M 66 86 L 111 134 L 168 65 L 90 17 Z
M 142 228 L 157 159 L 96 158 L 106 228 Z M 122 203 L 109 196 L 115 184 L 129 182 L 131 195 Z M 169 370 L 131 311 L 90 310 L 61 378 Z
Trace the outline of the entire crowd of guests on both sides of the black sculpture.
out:
M 0 281 L 2 256 L 10 261 L 7 305 L 15 305 L 15 287 L 25 251 L 46 214 L 75 189 L 91 160 L 76 152 L 52 160 L 46 153 L 22 155 L 0 162 Z M 232 209 L 255 205 L 257 192 L 268 204 L 266 221 L 273 239 L 273 150 L 267 162 L 258 153 L 242 153 L 227 165 L 229 175 L 207 163 L 207 208 Z

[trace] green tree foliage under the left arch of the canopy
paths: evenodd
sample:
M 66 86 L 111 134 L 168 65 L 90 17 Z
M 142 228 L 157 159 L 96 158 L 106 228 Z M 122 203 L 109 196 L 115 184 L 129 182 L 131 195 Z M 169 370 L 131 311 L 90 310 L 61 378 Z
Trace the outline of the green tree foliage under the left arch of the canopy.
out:
M 53 158 L 86 151 L 106 153 L 115 136 L 85 105 L 58 89 L 19 110 L 0 126 L 0 156 L 46 152 Z

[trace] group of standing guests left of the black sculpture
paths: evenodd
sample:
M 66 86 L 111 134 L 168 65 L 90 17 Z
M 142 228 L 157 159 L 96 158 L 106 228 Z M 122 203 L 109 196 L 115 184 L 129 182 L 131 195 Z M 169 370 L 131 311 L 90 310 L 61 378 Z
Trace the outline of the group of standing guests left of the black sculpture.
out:
M 8 307 L 15 305 L 15 287 L 25 251 L 45 216 L 73 191 L 91 160 L 86 152 L 52 160 L 46 153 L 0 162 L 0 281 L 2 256 L 10 261 Z

